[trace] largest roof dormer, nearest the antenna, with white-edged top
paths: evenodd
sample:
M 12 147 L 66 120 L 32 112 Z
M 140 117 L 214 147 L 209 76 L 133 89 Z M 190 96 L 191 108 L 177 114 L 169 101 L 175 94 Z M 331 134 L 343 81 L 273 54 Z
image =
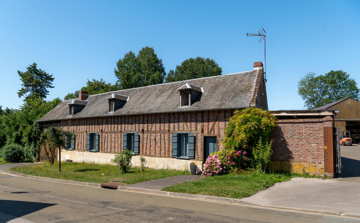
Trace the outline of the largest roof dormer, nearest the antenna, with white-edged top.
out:
M 204 92 L 202 87 L 186 83 L 177 89 L 180 91 L 180 106 L 189 107 L 193 103 L 200 101 L 201 95 Z

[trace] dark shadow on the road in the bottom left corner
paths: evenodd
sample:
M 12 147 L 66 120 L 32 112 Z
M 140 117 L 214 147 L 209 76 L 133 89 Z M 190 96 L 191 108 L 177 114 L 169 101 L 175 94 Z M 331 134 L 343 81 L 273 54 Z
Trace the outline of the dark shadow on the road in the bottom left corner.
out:
M 0 200 L 0 212 L 12 215 L 13 219 L 15 219 L 53 205 L 56 204 L 29 201 Z M 0 223 L 5 223 L 9 220 L 11 219 L 0 218 Z

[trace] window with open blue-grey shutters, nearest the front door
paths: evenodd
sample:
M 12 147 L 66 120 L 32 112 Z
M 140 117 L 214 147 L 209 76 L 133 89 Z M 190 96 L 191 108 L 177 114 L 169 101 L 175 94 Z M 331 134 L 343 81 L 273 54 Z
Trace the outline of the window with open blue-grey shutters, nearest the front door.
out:
M 181 132 L 172 134 L 172 157 L 194 159 L 194 134 Z

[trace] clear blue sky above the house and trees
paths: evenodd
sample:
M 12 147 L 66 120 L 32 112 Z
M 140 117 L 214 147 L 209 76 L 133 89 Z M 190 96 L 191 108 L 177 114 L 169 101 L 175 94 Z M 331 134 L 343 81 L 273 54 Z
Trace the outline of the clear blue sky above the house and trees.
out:
M 210 57 L 223 74 L 264 62 L 270 110 L 303 109 L 297 82 L 309 72 L 348 72 L 360 84 L 360 1 L 2 1 L 0 105 L 18 108 L 17 70 L 36 62 L 55 77 L 48 99 L 87 79 L 114 83 L 116 61 L 152 46 L 166 71 Z

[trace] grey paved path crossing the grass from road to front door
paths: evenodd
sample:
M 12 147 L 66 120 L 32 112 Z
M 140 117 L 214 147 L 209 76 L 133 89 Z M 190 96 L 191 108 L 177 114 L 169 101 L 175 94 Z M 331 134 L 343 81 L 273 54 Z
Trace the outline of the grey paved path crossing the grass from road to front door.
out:
M 199 175 L 177 175 L 174 177 L 167 177 L 162 179 L 144 181 L 135 184 L 129 184 L 124 187 L 136 187 L 136 188 L 144 188 L 144 189 L 161 190 L 164 187 L 170 187 L 172 185 L 183 183 L 190 180 L 198 180 L 203 177 L 204 176 L 199 176 Z

